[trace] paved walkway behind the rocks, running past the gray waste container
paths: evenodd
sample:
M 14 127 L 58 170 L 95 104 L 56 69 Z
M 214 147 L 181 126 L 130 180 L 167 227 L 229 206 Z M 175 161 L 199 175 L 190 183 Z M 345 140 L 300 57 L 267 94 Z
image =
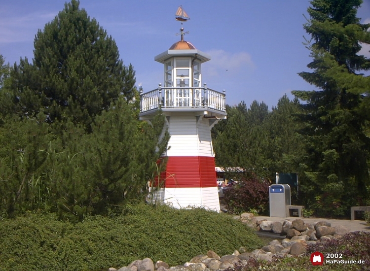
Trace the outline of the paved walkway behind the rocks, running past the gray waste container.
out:
M 295 220 L 300 217 L 269 217 L 269 216 L 256 216 L 257 221 L 266 219 L 269 221 L 280 221 L 283 222 L 284 220 Z M 346 219 L 330 219 L 330 218 L 301 218 L 305 223 L 314 223 L 316 221 L 328 221 L 332 224 L 332 227 L 337 225 L 342 225 L 346 227 L 350 232 L 357 232 L 357 231 L 364 231 L 370 232 L 370 225 L 366 223 L 364 220 L 346 220 Z

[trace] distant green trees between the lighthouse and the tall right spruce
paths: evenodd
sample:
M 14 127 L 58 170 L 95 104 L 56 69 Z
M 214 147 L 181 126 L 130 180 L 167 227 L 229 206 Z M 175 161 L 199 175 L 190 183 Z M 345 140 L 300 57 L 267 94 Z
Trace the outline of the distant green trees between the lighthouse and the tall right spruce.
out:
M 285 95 L 272 111 L 257 101 L 248 109 L 241 102 L 226 110 L 227 119 L 212 130 L 218 166 L 240 167 L 269 179 L 275 172 L 297 172 L 296 156 L 303 147 L 297 135 L 301 124 L 294 117 L 299 112 L 297 100 Z

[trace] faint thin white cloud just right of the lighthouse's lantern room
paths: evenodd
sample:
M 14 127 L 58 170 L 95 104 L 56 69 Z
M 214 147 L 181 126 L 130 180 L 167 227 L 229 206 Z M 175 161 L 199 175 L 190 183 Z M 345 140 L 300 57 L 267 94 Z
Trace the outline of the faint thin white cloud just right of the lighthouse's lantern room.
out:
M 224 50 L 211 50 L 207 54 L 211 56 L 211 61 L 207 63 L 207 68 L 204 70 L 208 76 L 219 76 L 225 71 L 237 74 L 243 69 L 255 68 L 252 57 L 247 52 L 232 54 Z

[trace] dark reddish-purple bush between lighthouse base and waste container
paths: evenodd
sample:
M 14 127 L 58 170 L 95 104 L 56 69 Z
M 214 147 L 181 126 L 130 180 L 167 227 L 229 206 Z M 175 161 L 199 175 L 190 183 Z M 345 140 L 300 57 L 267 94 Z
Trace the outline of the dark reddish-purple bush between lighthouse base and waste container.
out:
M 268 186 L 269 181 L 257 176 L 239 180 L 238 184 L 225 191 L 224 202 L 232 213 L 268 212 Z

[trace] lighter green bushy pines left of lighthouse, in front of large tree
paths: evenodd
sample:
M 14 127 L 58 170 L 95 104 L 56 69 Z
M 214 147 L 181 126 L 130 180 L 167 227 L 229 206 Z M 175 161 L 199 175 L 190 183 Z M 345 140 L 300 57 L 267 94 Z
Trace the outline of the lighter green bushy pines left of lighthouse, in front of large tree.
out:
M 6 121 L 0 127 L 2 215 L 44 209 L 83 220 L 144 201 L 153 162 L 166 149 L 169 135 L 163 131 L 163 115 L 144 125 L 132 106 L 121 97 L 96 118 L 90 134 L 67 122 L 56 137 L 42 115 Z

